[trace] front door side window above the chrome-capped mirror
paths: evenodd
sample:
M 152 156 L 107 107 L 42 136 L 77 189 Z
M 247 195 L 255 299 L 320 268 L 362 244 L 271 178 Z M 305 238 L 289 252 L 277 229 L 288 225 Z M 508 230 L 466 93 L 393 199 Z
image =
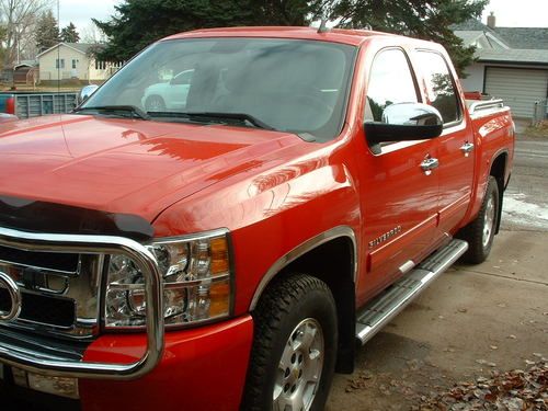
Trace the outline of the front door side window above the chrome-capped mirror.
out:
M 403 50 L 389 48 L 373 61 L 367 83 L 365 122 L 380 122 L 383 111 L 396 103 L 416 103 L 416 88 Z

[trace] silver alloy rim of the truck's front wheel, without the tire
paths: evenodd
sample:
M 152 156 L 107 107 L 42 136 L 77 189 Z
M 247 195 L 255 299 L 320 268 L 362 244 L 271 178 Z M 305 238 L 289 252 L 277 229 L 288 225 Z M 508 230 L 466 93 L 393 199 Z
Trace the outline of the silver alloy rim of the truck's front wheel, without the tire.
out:
M 279 358 L 273 410 L 310 410 L 323 368 L 323 332 L 318 321 L 307 318 L 295 327 Z

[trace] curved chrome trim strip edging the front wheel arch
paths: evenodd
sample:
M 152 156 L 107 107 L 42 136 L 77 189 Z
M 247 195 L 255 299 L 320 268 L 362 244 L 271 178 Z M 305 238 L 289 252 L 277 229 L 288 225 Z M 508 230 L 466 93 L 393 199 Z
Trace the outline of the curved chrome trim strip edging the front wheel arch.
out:
M 299 256 L 306 254 L 308 251 L 313 250 L 315 248 L 324 244 L 326 242 L 329 242 L 331 240 L 334 240 L 336 238 L 341 237 L 346 237 L 350 238 L 352 241 L 352 247 L 353 247 L 353 279 L 354 279 L 354 285 L 356 284 L 357 281 L 357 246 L 356 246 L 356 236 L 354 233 L 354 230 L 350 228 L 349 226 L 338 226 L 334 227 L 328 231 L 323 231 L 319 233 L 316 237 L 312 237 L 311 239 L 305 241 L 300 246 L 297 246 L 294 248 L 292 251 L 289 251 L 287 254 L 281 256 L 276 262 L 269 269 L 269 271 L 263 275 L 261 278 L 261 282 L 259 283 L 259 286 L 255 289 L 255 293 L 253 294 L 253 298 L 251 299 L 251 304 L 249 306 L 249 310 L 253 311 L 256 307 L 256 304 L 259 302 L 259 298 L 263 294 L 264 289 L 269 285 L 272 278 L 282 271 L 286 265 L 292 263 L 293 261 L 297 260 Z

